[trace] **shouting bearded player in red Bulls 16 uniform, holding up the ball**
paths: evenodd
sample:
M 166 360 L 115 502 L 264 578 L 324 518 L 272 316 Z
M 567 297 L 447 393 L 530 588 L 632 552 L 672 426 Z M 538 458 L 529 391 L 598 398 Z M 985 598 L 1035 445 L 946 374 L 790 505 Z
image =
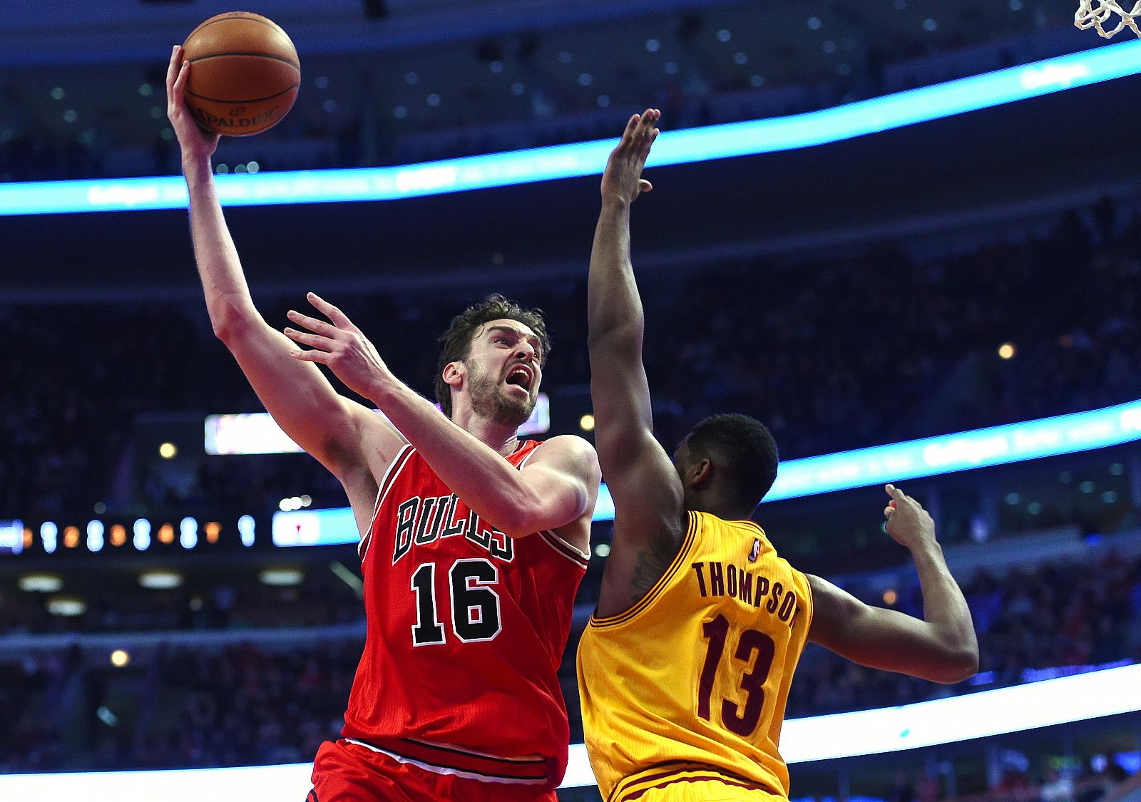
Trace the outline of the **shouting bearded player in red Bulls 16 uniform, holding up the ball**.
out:
M 345 486 L 361 530 L 367 635 L 343 738 L 310 800 L 555 800 L 569 727 L 556 675 L 598 493 L 577 437 L 520 441 L 550 347 L 541 315 L 489 295 L 442 338 L 444 413 L 400 383 L 337 307 L 258 314 L 222 218 L 175 48 L 168 115 L 215 332 L 282 429 Z M 299 345 L 308 349 L 299 348 Z M 338 395 L 314 363 L 374 402 Z M 403 434 L 402 434 L 403 432 Z

